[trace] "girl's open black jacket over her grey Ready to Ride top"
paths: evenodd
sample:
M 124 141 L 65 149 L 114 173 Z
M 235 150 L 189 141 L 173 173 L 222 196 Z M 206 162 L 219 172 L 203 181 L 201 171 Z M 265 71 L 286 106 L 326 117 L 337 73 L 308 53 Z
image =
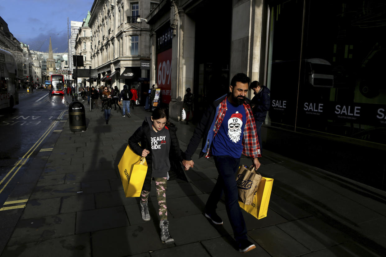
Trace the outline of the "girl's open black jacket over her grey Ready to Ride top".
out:
M 150 117 L 149 117 L 150 119 Z M 147 173 L 144 181 L 144 185 L 142 187 L 142 190 L 150 191 L 151 189 L 151 166 L 152 166 L 152 158 L 151 158 L 151 141 L 150 141 L 150 129 L 153 129 L 149 126 L 149 123 L 145 119 L 142 123 L 142 126 L 139 127 L 132 136 L 129 138 L 129 146 L 134 151 L 135 154 L 142 156 L 142 151 L 144 149 L 147 149 L 150 151 L 150 153 L 145 157 L 146 163 L 147 163 Z M 173 123 L 166 123 L 165 129 L 168 129 L 170 134 L 170 150 L 169 150 L 169 160 L 170 160 L 170 166 L 171 170 L 173 170 L 173 167 L 176 166 L 176 162 L 178 162 L 179 168 L 181 168 L 181 162 L 183 160 L 182 151 L 179 148 L 178 138 L 176 135 L 177 128 L 174 126 Z M 141 143 L 139 145 L 138 143 Z M 178 167 L 177 165 L 177 167 Z M 174 170 L 176 173 L 180 173 L 181 169 L 178 169 L 177 171 Z M 183 173 L 183 171 L 182 171 Z M 169 176 L 171 176 L 169 172 Z M 177 174 L 177 177 L 181 176 L 181 174 Z M 185 176 L 185 174 L 183 174 Z M 185 177 L 186 180 L 186 177 Z

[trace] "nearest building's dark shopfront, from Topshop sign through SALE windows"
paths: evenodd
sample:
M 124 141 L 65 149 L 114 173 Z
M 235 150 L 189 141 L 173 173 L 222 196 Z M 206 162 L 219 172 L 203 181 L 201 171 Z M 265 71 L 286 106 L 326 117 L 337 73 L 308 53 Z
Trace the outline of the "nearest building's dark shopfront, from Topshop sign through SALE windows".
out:
M 386 188 L 384 39 L 378 36 L 384 24 L 375 18 L 386 4 L 224 0 L 221 10 L 218 5 L 161 0 L 146 17 L 150 84 L 161 88 L 169 116 L 179 119 L 190 87 L 199 118 L 243 72 L 271 91 L 259 139 L 264 149 Z M 325 153 L 328 161 L 321 160 Z M 365 177 L 363 170 L 371 174 Z

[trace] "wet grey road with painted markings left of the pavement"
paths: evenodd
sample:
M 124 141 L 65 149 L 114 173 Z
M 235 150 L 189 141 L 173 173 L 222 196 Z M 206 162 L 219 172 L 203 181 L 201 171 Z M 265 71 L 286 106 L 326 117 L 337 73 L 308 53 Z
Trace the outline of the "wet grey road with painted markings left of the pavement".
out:
M 54 121 L 66 110 L 64 96 L 49 97 L 47 89 L 37 89 L 33 93 L 22 90 L 18 105 L 12 110 L 0 110 L 0 205 L 7 200 L 23 170 L 28 168 L 30 158 L 54 130 Z M 22 161 L 23 169 L 15 173 Z

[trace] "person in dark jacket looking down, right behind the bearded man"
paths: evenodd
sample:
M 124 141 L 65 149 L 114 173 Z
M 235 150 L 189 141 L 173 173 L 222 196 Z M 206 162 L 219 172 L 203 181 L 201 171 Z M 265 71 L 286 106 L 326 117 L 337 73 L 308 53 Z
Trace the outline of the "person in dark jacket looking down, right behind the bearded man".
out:
M 260 148 L 262 149 L 261 125 L 264 123 L 267 111 L 269 110 L 271 103 L 269 93 L 271 93 L 271 91 L 266 86 L 260 86 L 259 81 L 251 82 L 249 89 L 252 89 L 253 94 L 255 95 L 251 100 L 251 107 L 255 118 L 257 138 L 259 139 Z

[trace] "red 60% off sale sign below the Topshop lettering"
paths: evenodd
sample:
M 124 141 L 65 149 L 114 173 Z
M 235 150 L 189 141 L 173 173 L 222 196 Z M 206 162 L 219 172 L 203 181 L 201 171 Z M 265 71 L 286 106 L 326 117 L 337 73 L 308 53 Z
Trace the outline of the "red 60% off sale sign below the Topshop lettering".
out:
M 157 86 L 161 89 L 161 102 L 171 99 L 171 49 L 157 55 Z

